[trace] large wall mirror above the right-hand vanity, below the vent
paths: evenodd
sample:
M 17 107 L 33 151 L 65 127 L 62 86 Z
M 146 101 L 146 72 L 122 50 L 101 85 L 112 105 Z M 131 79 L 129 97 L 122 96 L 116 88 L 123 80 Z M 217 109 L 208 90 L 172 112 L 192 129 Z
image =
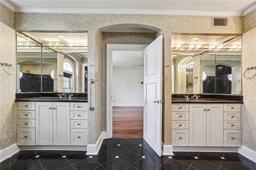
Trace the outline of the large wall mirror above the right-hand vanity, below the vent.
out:
M 241 95 L 241 39 L 172 35 L 172 93 Z

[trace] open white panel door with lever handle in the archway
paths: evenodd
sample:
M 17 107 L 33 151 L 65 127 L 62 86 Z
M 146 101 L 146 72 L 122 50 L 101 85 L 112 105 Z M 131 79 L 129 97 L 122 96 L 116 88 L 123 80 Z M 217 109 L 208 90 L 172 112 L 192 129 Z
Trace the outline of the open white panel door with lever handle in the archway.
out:
M 162 156 L 162 36 L 144 49 L 143 138 Z

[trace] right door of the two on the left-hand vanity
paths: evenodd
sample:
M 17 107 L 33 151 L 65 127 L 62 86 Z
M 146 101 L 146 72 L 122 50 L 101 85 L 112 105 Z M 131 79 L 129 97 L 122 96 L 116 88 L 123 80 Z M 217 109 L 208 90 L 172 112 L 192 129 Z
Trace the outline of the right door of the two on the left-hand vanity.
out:
M 70 145 L 70 104 L 52 103 L 53 145 Z

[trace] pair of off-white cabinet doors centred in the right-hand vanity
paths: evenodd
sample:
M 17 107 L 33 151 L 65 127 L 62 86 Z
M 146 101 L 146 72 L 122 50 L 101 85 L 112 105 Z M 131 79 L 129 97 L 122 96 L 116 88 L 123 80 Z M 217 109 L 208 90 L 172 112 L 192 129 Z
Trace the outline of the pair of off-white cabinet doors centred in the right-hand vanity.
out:
M 223 104 L 189 104 L 189 146 L 223 146 Z

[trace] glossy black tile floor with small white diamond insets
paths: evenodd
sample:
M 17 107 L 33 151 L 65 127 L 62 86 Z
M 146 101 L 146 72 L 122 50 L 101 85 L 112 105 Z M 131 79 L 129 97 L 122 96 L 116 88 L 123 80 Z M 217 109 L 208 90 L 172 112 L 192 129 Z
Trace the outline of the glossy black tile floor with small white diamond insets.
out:
M 104 139 L 98 155 L 84 151 L 20 151 L 0 163 L 1 170 L 256 170 L 238 153 L 174 152 L 158 155 L 142 138 Z

